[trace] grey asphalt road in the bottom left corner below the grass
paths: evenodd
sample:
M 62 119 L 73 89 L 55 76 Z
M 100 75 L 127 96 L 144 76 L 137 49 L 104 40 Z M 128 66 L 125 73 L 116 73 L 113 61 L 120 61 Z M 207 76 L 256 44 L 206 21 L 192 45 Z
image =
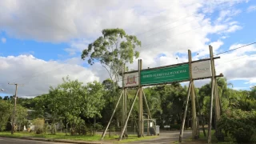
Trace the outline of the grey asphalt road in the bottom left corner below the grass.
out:
M 30 144 L 30 143 L 44 143 L 44 144 L 70 144 L 70 143 L 64 143 L 64 142 L 44 142 L 44 141 L 34 141 L 34 140 L 26 140 L 26 139 L 20 139 L 20 138 L 2 138 L 0 137 L 0 143 L 1 144 Z

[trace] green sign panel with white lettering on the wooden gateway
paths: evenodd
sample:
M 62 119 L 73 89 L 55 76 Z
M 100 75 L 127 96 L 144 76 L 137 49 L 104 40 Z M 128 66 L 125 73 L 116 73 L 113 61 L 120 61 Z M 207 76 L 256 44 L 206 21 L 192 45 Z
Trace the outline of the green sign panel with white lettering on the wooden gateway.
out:
M 142 70 L 141 85 L 177 82 L 190 79 L 189 64 L 165 67 L 157 70 Z

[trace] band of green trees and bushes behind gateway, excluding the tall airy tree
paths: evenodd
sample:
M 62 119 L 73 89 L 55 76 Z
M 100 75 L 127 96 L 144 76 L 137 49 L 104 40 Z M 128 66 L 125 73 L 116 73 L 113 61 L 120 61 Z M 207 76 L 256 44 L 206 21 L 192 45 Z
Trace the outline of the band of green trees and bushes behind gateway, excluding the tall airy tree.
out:
M 186 86 L 173 83 L 165 86 L 151 86 L 144 89 L 150 112 L 156 118 L 157 125 L 161 128 L 170 126 L 169 130 L 179 130 L 182 123 L 182 115 L 186 100 Z M 218 91 L 222 105 L 222 117 L 218 126 L 226 134 L 226 137 L 234 138 L 237 142 L 254 142 L 256 130 L 256 97 L 255 87 L 251 90 L 233 90 L 225 78 L 218 78 Z M 120 94 L 120 90 L 117 91 Z M 128 103 L 134 97 L 136 90 L 128 91 Z M 201 111 L 199 117 L 207 125 L 209 113 L 210 83 L 196 89 L 198 99 L 197 110 Z M 27 118 L 34 119 L 34 124 L 40 118 L 45 120 L 45 125 L 40 125 L 37 134 L 57 134 L 58 123 L 61 127 L 58 130 L 66 130 L 70 135 L 96 135 L 102 130 L 114 110 L 113 82 L 106 79 L 102 83 L 89 82 L 83 84 L 78 80 L 63 78 L 62 84 L 57 87 L 50 87 L 49 94 L 36 98 L 18 98 L 17 115 L 20 127 L 29 126 Z M 1 103 L 1 130 L 10 130 L 10 116 L 12 112 L 12 97 L 4 97 Z M 190 103 L 190 102 L 189 102 Z M 24 112 L 26 109 L 34 110 L 32 114 Z M 130 105 L 128 105 L 128 110 Z M 129 126 L 136 130 L 137 105 L 131 115 Z M 143 108 L 146 111 L 146 107 Z M 118 114 L 119 113 L 119 114 Z M 190 106 L 188 119 L 190 118 Z M 110 125 L 112 131 L 120 130 L 118 122 L 121 121 L 120 110 Z M 146 115 L 145 115 L 146 117 Z M 213 119 L 213 128 L 216 125 Z M 190 127 L 190 121 L 186 122 L 186 128 Z M 36 129 L 36 128 L 35 128 Z M 22 130 L 22 129 L 21 129 Z M 128 129 L 130 130 L 130 129 Z M 68 135 L 66 133 L 66 135 Z M 111 135 L 111 134 L 110 134 Z M 203 136 L 204 137 L 204 136 Z M 213 136 L 214 137 L 214 136 Z M 202 137 L 201 137 L 202 138 Z

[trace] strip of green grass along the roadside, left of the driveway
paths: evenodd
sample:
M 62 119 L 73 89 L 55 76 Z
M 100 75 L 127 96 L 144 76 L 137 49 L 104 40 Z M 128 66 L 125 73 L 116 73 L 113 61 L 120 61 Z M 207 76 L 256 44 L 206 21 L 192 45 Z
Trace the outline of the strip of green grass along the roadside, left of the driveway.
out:
M 28 132 L 16 132 L 14 134 L 10 134 L 10 132 L 0 132 L 0 137 L 11 137 L 11 138 L 46 138 L 46 139 L 68 139 L 68 140 L 75 140 L 75 141 L 100 141 L 102 138 L 101 134 L 95 134 L 94 136 L 90 135 L 66 135 L 65 133 L 57 133 L 57 134 L 34 134 Z M 142 138 L 137 138 L 137 135 L 129 135 L 129 138 L 122 139 L 122 141 L 118 141 L 118 135 L 104 138 L 106 141 L 112 142 L 135 142 L 141 141 L 151 138 L 157 138 L 158 136 L 146 136 Z

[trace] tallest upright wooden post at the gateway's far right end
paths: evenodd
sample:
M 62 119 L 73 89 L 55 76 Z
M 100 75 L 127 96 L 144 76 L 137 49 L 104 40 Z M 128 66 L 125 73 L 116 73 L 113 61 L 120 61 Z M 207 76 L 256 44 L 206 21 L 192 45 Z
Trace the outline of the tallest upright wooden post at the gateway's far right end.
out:
M 213 101 L 214 101 L 214 69 L 213 69 L 213 50 L 212 47 L 209 46 L 210 50 L 210 67 L 211 67 L 211 94 L 210 94 L 210 113 L 209 113 L 209 122 L 208 122 L 208 143 L 211 142 L 211 123 L 213 118 Z

